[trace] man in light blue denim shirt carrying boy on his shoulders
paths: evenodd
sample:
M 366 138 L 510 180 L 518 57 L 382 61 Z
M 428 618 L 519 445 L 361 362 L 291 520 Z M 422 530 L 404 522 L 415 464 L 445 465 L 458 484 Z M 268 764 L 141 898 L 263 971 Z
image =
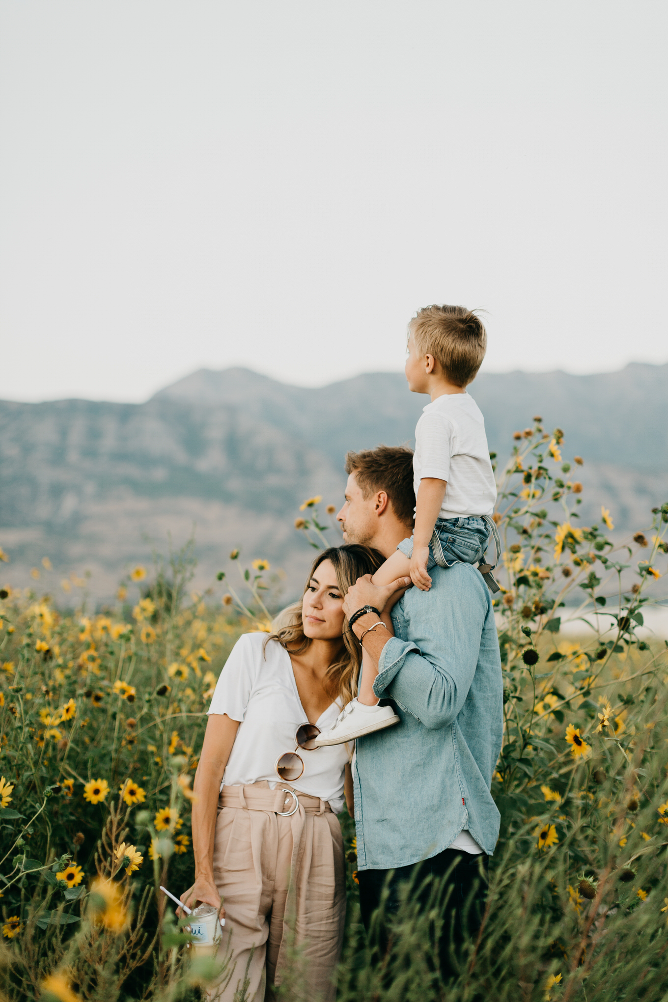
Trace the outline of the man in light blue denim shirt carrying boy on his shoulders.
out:
M 338 514 L 347 542 L 390 556 L 413 531 L 413 454 L 381 446 L 349 453 L 346 503 Z M 400 723 L 361 737 L 354 763 L 362 916 L 367 929 L 390 877 L 386 910 L 402 881 L 444 878 L 451 922 L 439 944 L 442 975 L 451 944 L 477 928 L 481 876 L 499 836 L 490 787 L 503 731 L 503 682 L 492 600 L 466 563 L 435 566 L 429 591 L 409 588 L 392 608 L 395 636 L 376 612 L 357 618 L 366 654 L 378 666 L 374 691 L 392 699 Z M 361 578 L 346 597 L 349 617 L 366 605 L 383 612 L 397 586 Z M 466 616 L 464 610 L 466 609 Z M 473 627 L 461 629 L 466 619 Z M 468 930 L 465 905 L 471 903 Z M 453 914 L 454 909 L 454 914 Z M 451 933 L 452 930 L 452 933 Z

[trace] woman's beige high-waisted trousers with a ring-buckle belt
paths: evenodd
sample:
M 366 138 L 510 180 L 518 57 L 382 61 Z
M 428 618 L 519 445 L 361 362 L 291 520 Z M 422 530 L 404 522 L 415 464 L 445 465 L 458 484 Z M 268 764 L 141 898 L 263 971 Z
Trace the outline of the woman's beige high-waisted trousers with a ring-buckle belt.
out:
M 225 928 L 217 956 L 229 954 L 229 963 L 210 1002 L 232 1002 L 246 980 L 248 1002 L 271 999 L 292 947 L 309 999 L 333 1002 L 346 919 L 344 840 L 337 816 L 316 797 L 295 791 L 298 810 L 281 817 L 295 807 L 290 789 L 262 781 L 220 795 L 213 879 Z

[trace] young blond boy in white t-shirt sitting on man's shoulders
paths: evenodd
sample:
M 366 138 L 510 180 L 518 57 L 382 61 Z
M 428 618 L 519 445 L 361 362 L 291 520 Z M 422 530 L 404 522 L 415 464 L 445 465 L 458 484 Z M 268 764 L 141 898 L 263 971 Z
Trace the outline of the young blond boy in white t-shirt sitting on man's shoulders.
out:
M 409 389 L 432 398 L 416 428 L 415 530 L 374 574 L 374 584 L 390 584 L 410 574 L 416 587 L 429 591 L 429 571 L 436 563 L 450 566 L 483 559 L 489 538 L 486 518 L 494 511 L 497 487 L 485 421 L 466 387 L 486 350 L 483 324 L 464 307 L 425 307 L 409 325 Z M 387 615 L 383 618 L 390 622 Z M 364 657 L 357 699 L 330 730 L 318 735 L 316 744 L 349 741 L 399 722 L 392 707 L 378 704 L 377 674 Z

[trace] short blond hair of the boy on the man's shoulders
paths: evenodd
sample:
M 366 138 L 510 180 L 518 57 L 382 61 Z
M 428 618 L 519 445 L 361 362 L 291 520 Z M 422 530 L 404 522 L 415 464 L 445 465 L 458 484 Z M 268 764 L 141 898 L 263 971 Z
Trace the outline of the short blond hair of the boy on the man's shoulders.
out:
M 450 383 L 473 383 L 487 351 L 487 331 L 466 307 L 433 306 L 419 310 L 409 337 L 420 355 L 433 355 Z

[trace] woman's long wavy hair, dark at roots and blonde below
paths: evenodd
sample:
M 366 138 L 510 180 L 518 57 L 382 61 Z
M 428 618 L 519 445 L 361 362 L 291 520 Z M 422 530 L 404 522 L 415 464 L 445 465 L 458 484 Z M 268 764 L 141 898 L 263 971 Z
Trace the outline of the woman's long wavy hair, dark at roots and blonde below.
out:
M 342 595 L 346 595 L 351 585 L 365 574 L 373 574 L 385 561 L 378 550 L 359 543 L 349 543 L 346 546 L 332 546 L 323 550 L 313 560 L 306 583 L 303 586 L 305 594 L 315 569 L 323 560 L 331 561 L 337 574 L 337 584 Z M 278 613 L 272 626 L 273 632 L 267 636 L 264 646 L 269 640 L 277 640 L 288 653 L 302 654 L 311 644 L 310 637 L 305 636 L 301 623 L 301 602 L 289 605 Z M 358 691 L 358 675 L 362 665 L 362 648 L 357 637 L 348 629 L 348 619 L 344 622 L 343 649 L 341 656 L 327 668 L 324 676 L 324 688 L 332 697 L 340 696 L 344 704 L 350 702 Z

